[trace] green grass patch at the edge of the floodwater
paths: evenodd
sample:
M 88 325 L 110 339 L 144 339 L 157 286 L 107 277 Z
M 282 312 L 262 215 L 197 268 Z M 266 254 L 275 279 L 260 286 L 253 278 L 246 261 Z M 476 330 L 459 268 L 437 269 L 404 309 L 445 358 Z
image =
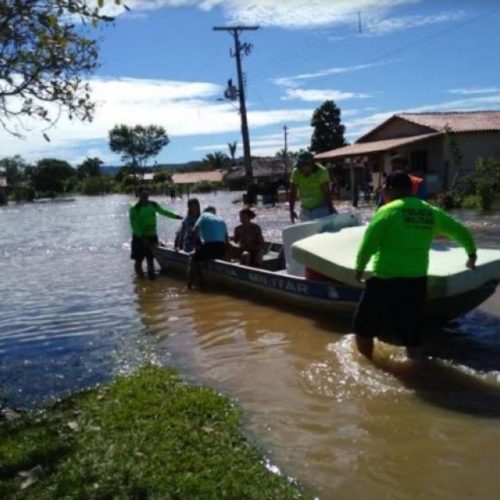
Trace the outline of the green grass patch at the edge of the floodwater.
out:
M 0 498 L 303 498 L 241 433 L 240 411 L 147 366 L 0 425 Z

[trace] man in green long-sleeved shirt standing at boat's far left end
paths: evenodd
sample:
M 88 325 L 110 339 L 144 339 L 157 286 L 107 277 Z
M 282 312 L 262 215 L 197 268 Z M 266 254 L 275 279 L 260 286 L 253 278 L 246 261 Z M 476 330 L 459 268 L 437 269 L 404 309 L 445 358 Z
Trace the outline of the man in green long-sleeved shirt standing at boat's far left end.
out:
M 132 227 L 132 252 L 130 258 L 135 261 L 134 268 L 137 276 L 144 276 L 142 262 L 146 259 L 148 277 L 155 276 L 153 249 L 158 244 L 156 232 L 156 214 L 170 219 L 182 219 L 180 215 L 162 208 L 155 201 L 149 200 L 149 191 L 146 187 L 139 188 L 139 201 L 130 207 L 129 220 Z

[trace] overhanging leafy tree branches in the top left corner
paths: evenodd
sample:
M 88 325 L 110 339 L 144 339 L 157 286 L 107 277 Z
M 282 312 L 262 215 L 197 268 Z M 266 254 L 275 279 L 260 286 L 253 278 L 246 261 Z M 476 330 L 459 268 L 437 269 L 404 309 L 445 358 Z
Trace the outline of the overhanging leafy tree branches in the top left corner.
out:
M 101 14 L 103 3 L 0 0 L 0 123 L 5 129 L 20 135 L 12 128 L 14 120 L 54 123 L 61 112 L 70 119 L 92 119 L 94 103 L 82 77 L 98 66 L 93 28 L 112 21 Z

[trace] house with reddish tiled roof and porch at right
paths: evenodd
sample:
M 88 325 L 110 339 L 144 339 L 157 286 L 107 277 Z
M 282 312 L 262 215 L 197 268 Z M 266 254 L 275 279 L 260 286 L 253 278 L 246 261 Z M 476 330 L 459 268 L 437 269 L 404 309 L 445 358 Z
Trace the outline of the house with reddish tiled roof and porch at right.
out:
M 364 169 L 376 187 L 395 153 L 407 159 L 411 170 L 427 176 L 431 191 L 446 189 L 456 176 L 471 172 L 478 158 L 500 156 L 500 111 L 396 114 L 354 144 L 316 159 L 349 168 L 351 181 Z

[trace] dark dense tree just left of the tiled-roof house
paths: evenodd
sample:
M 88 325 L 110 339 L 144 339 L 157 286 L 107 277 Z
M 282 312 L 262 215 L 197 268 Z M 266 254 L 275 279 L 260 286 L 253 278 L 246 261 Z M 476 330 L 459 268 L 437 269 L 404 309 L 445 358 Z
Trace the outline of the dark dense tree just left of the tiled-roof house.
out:
M 345 146 L 345 127 L 342 125 L 340 109 L 333 101 L 325 101 L 314 111 L 311 126 L 311 151 L 322 153 Z

